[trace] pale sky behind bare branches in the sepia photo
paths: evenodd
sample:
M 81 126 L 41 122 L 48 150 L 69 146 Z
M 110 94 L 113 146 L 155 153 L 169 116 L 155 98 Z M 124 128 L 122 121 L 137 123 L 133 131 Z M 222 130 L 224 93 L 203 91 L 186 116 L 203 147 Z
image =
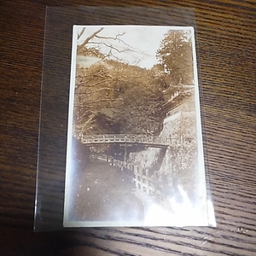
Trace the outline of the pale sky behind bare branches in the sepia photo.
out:
M 82 31 L 83 27 L 76 26 L 77 34 Z M 123 51 L 121 53 L 114 49 L 112 51 L 113 55 L 119 60 L 124 60 L 130 65 L 145 68 L 151 68 L 157 63 L 156 51 L 160 48 L 160 42 L 165 37 L 166 32 L 171 29 L 181 30 L 180 27 L 170 26 L 86 26 L 84 33 L 77 43 L 82 44 L 86 38 L 90 37 L 101 27 L 104 28 L 98 33 L 98 36 L 106 39 L 92 38 L 90 44 L 86 44 L 86 47 L 98 46 L 103 54 L 108 54 L 109 47 L 105 44 L 111 44 L 114 48 L 119 49 L 119 51 Z M 109 39 L 116 38 L 119 34 L 122 34 L 119 38 L 125 44 L 118 40 Z M 102 44 L 91 44 L 93 42 L 100 42 Z

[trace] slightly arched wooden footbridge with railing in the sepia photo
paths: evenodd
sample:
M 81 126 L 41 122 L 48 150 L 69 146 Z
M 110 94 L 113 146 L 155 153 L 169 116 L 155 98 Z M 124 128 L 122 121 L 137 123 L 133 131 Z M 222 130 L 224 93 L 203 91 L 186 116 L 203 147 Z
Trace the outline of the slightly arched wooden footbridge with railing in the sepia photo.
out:
M 83 135 L 81 142 L 94 146 L 96 144 L 143 144 L 153 148 L 167 148 L 170 139 L 164 137 L 154 137 L 140 134 L 103 134 L 103 135 Z

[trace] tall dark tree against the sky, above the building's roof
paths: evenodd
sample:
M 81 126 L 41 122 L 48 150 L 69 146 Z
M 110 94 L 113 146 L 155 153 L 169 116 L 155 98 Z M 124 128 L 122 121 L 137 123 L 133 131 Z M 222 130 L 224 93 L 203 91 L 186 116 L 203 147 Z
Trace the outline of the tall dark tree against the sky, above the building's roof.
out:
M 189 32 L 169 31 L 156 57 L 173 85 L 194 84 L 192 43 Z

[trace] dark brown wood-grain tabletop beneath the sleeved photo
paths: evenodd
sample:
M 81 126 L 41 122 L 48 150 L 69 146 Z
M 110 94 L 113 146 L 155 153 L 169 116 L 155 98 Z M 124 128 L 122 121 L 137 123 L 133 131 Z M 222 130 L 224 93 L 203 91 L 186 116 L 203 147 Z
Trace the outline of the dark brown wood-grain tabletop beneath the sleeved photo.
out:
M 195 8 L 217 228 L 33 233 L 45 6 L 76 4 Z M 3 0 L 0 14 L 1 255 L 256 255 L 255 1 Z

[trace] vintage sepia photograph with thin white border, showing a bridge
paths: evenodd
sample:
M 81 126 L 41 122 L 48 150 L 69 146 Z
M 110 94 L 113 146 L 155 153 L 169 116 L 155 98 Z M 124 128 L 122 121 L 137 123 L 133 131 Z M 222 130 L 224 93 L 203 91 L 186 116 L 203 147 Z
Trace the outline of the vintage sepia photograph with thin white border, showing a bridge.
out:
M 195 34 L 73 26 L 64 226 L 207 225 Z

